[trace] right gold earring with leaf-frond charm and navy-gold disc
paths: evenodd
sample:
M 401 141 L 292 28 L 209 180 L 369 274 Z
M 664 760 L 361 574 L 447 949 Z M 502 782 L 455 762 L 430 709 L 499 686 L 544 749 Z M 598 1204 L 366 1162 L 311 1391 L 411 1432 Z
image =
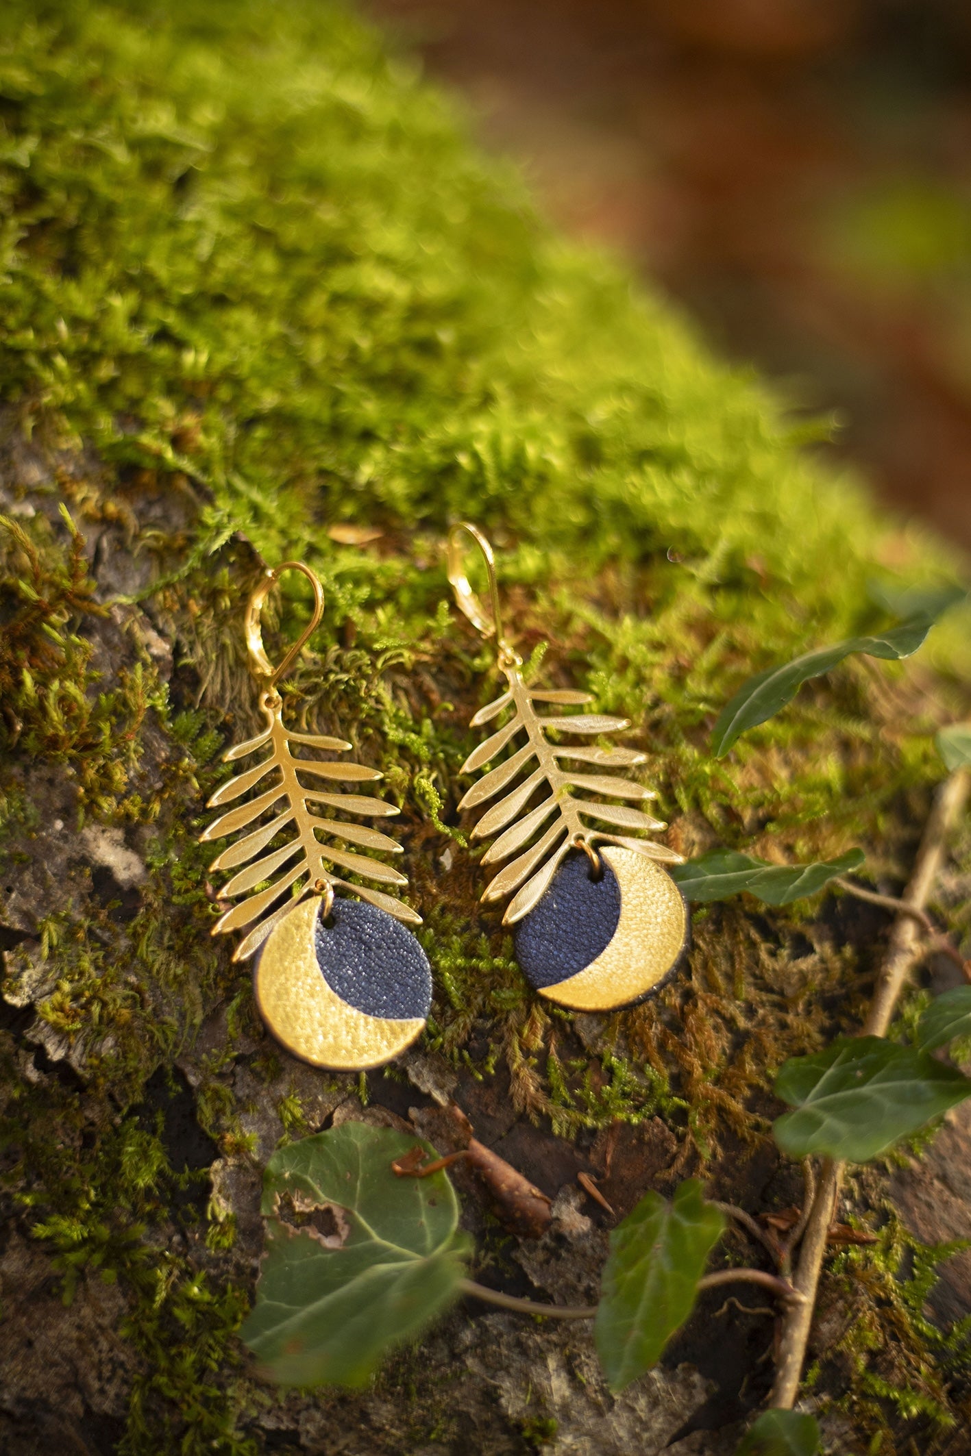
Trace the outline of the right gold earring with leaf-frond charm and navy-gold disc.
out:
M 469 585 L 463 537 L 472 539 L 485 561 L 491 612 Z M 453 526 L 448 534 L 447 571 L 460 610 L 483 638 L 495 638 L 496 665 L 507 680 L 507 690 L 479 709 L 472 727 L 492 722 L 505 711 L 511 713 L 469 756 L 461 772 L 483 769 L 521 734 L 527 738 L 479 779 L 459 805 L 475 808 L 510 789 L 472 831 L 473 839 L 499 836 L 486 850 L 483 865 L 508 860 L 482 898 L 488 903 L 512 895 L 502 923 L 515 926 L 517 961 L 542 996 L 575 1010 L 610 1010 L 642 1000 L 661 984 L 684 946 L 684 900 L 655 863 L 681 863 L 681 856 L 630 833 L 591 827 L 587 820 L 629 831 L 667 827 L 630 802 L 604 802 L 657 798 L 639 783 L 603 772 L 635 767 L 646 761 L 645 754 L 550 741 L 550 732 L 558 740 L 592 738 L 622 732 L 630 724 L 598 713 L 540 716 L 537 703 L 565 708 L 592 699 L 572 689 L 527 687 L 523 658 L 502 635 L 492 547 L 469 521 Z M 595 772 L 560 767 L 563 759 Z M 527 767 L 528 776 L 517 782 Z M 543 788 L 549 788 L 549 795 L 527 810 Z

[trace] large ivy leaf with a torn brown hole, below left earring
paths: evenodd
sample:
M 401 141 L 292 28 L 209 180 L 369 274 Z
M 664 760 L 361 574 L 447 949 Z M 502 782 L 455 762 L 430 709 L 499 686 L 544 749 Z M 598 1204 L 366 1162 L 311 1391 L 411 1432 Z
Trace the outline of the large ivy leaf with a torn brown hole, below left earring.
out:
M 392 1172 L 418 1142 L 342 1123 L 271 1158 L 268 1252 L 240 1334 L 282 1385 L 362 1385 L 456 1297 L 464 1236 L 448 1178 Z

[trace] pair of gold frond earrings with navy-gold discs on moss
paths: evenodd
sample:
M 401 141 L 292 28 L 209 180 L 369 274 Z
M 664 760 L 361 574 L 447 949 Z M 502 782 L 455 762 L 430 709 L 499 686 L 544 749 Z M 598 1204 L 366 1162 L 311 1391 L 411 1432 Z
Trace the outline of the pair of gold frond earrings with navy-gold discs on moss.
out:
M 469 585 L 466 539 L 482 552 L 491 612 Z M 314 606 L 306 630 L 274 667 L 262 642 L 261 612 L 285 571 L 303 572 Z M 483 638 L 495 638 L 496 667 L 507 683 L 472 719 L 477 728 L 505 713 L 502 725 L 461 767 L 475 773 L 494 764 L 459 805 L 467 810 L 496 801 L 472 831 L 473 839 L 498 836 L 483 865 L 505 862 L 482 898 L 512 897 L 502 923 L 515 926 L 517 960 L 542 996 L 576 1010 L 610 1010 L 641 1000 L 674 967 L 687 930 L 681 894 L 658 865 L 678 863 L 680 855 L 635 837 L 635 831 L 665 827 L 632 804 L 655 795 L 609 772 L 635 767 L 645 754 L 595 745 L 600 735 L 629 728 L 626 718 L 559 712 L 585 706 L 588 693 L 527 686 L 523 660 L 502 635 L 492 547 L 467 521 L 448 536 L 448 581 L 464 616 Z M 239 904 L 220 917 L 213 933 L 246 932 L 233 960 L 256 957 L 253 984 L 268 1029 L 304 1061 L 361 1070 L 389 1061 L 419 1035 L 431 1008 L 431 968 L 406 929 L 421 925 L 421 916 L 384 890 L 361 882 L 392 888 L 408 882 L 365 853 L 400 853 L 400 844 L 355 823 L 390 818 L 397 810 L 338 788 L 381 775 L 346 759 L 294 754 L 294 745 L 341 754 L 351 744 L 294 732 L 282 722 L 278 683 L 322 616 L 323 588 L 303 562 L 287 561 L 268 571 L 253 593 L 245 630 L 265 725 L 224 759 L 269 751 L 215 791 L 211 808 L 243 802 L 220 814 L 201 839 L 246 831 L 211 865 L 213 871 L 239 869 L 221 891 Z M 552 712 L 540 713 L 537 703 Z M 530 808 L 543 789 L 549 792 Z M 617 799 L 622 802 L 607 802 Z M 354 881 L 344 879 L 345 872 Z

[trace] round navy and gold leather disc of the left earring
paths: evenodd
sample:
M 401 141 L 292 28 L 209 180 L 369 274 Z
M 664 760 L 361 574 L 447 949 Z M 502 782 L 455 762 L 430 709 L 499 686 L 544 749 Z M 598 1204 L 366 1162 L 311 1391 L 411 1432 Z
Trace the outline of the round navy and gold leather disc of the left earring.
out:
M 256 962 L 253 989 L 272 1035 L 303 1061 L 358 1072 L 412 1044 L 431 1006 L 431 968 L 415 936 L 384 910 L 320 900 L 280 922 Z

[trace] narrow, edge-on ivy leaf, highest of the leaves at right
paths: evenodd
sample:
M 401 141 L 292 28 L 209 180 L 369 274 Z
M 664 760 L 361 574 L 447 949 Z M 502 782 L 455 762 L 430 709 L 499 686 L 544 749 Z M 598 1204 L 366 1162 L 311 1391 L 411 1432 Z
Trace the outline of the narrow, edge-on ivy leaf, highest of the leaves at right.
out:
M 847 638 L 844 642 L 818 648 L 815 652 L 804 652 L 792 662 L 769 667 L 764 673 L 750 677 L 722 709 L 712 734 L 712 753 L 721 759 L 748 728 L 764 724 L 767 718 L 792 702 L 804 683 L 808 683 L 811 677 L 823 677 L 853 652 L 862 652 L 865 657 L 882 657 L 888 661 L 910 657 L 922 645 L 942 612 L 964 597 L 965 591 L 961 587 L 940 588 L 940 591 L 927 594 L 923 610 L 879 636 Z

